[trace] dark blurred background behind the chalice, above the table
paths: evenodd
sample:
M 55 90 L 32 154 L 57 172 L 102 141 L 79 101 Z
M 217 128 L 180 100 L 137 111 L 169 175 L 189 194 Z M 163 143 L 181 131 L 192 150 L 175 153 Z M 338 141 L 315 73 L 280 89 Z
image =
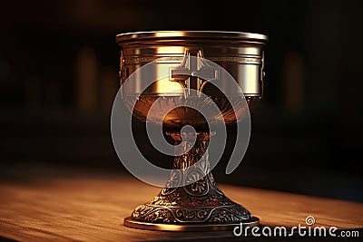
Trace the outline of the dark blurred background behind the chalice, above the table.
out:
M 268 34 L 250 147 L 218 182 L 363 202 L 360 1 L 5 1 L 1 167 L 126 173 L 111 140 L 114 36 L 149 30 Z M 22 169 L 20 174 L 28 171 Z

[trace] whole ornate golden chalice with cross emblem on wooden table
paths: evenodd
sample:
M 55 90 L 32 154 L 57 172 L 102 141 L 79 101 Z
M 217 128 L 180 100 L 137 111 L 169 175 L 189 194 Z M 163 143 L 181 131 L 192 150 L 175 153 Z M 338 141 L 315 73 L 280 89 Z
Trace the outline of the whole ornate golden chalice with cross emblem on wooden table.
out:
M 113 103 L 113 145 L 132 175 L 162 187 L 124 219 L 124 226 L 183 231 L 259 225 L 259 218 L 223 194 L 211 169 L 231 139 L 229 126 L 235 135 L 226 173 L 237 168 L 247 150 L 267 40 L 264 34 L 221 31 L 116 36 L 121 88 Z M 156 150 L 173 157 L 172 169 L 143 157 L 132 138 L 132 117 L 144 123 Z

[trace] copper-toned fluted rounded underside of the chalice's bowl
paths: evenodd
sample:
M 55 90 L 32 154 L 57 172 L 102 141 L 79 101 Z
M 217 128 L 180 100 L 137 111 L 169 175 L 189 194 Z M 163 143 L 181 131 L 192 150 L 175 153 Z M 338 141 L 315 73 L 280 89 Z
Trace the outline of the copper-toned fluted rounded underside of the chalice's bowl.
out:
M 249 108 L 258 97 L 188 97 L 182 96 L 140 96 L 126 98 L 126 105 L 140 121 L 163 125 L 166 130 L 180 131 L 191 125 L 196 131 L 207 131 L 209 125 L 232 124 L 249 115 Z M 233 102 L 233 107 L 231 102 Z M 215 103 L 218 109 L 211 108 Z M 189 105 L 189 107 L 187 106 Z M 191 108 L 191 107 L 192 108 Z M 152 110 L 151 110 L 152 107 Z M 202 112 L 204 112 L 202 114 Z

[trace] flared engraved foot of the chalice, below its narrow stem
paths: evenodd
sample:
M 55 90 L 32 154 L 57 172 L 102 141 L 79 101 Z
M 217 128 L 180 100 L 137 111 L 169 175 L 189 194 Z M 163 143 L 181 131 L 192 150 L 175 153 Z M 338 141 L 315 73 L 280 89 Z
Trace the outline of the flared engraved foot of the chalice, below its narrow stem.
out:
M 191 194 L 196 186 L 205 186 L 206 195 Z M 216 186 L 211 173 L 203 179 L 177 189 L 162 189 L 152 201 L 135 208 L 124 218 L 126 227 L 166 231 L 232 230 L 236 226 L 254 227 L 260 219 L 227 198 Z M 203 184 L 201 184 L 203 183 Z

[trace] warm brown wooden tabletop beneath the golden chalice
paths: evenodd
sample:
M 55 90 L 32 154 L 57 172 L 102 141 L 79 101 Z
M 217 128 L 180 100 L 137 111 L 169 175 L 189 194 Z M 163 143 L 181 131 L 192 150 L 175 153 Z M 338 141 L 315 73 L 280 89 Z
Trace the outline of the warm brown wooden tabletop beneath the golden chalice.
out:
M 260 241 L 261 237 L 235 237 L 232 231 L 162 232 L 123 226 L 132 209 L 160 191 L 127 174 L 69 172 L 38 169 L 33 176 L 1 179 L 0 237 L 20 241 L 149 241 L 233 240 Z M 53 173 L 52 173 L 53 172 Z M 23 172 L 19 174 L 26 174 Z M 48 174 L 44 176 L 42 174 Z M 50 174 L 50 175 L 49 175 Z M 10 179 L 9 179 L 10 178 Z M 261 226 L 315 226 L 352 228 L 363 237 L 363 204 L 316 198 L 265 189 L 219 184 L 234 201 L 260 218 Z M 276 238 L 285 241 L 287 238 Z M 295 237 L 295 240 L 298 239 Z M 0 239 L 1 240 L 1 239 Z M 294 240 L 294 241 L 295 241 Z M 317 238 L 317 241 L 321 240 Z M 353 241 L 353 238 L 349 239 Z

